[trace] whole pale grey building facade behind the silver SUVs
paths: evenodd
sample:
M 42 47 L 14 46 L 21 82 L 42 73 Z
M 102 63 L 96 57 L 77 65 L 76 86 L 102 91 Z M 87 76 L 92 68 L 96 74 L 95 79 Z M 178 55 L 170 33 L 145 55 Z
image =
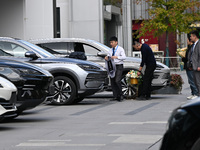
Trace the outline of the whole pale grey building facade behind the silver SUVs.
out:
M 0 12 L 0 36 L 78 37 L 108 44 L 115 35 L 123 44 L 121 9 L 103 6 L 103 0 L 1 0 Z

